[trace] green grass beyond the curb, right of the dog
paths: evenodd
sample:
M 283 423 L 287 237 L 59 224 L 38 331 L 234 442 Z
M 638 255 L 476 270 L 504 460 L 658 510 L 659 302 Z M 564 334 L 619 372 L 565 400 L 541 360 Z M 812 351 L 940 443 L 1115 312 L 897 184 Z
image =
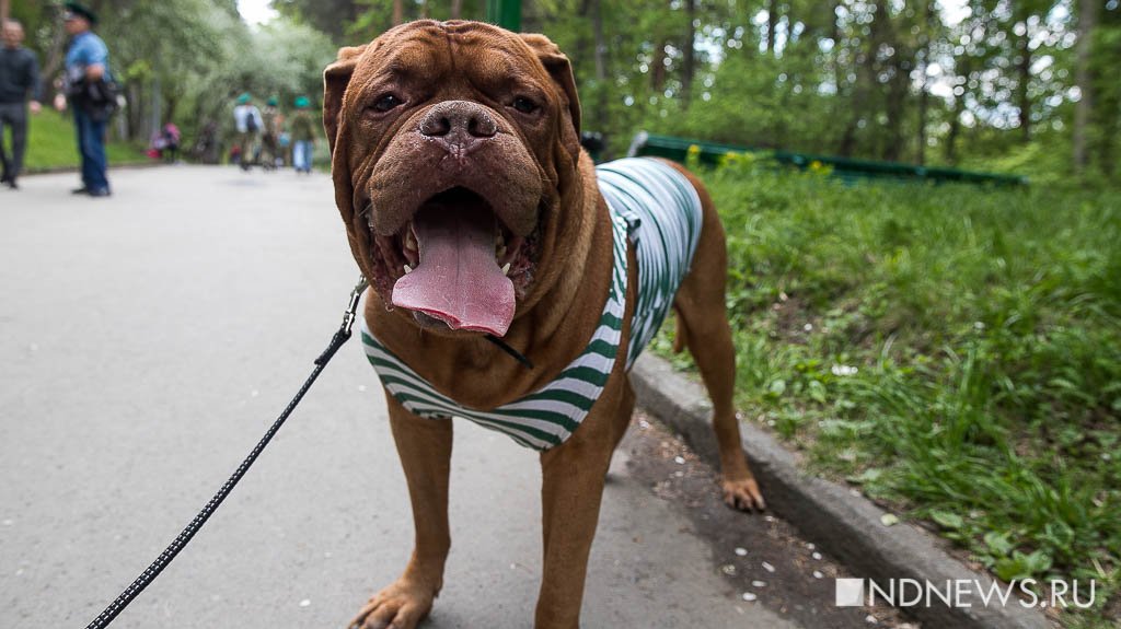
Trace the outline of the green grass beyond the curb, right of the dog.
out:
M 745 414 L 1003 580 L 1095 579 L 1063 621 L 1115 626 L 1121 194 L 702 175 Z

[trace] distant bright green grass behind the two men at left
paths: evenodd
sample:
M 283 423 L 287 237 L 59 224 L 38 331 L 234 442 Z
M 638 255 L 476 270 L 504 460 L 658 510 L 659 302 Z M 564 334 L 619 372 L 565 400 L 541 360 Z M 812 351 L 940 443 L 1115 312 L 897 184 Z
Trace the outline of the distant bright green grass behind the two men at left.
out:
M 70 112 L 61 114 L 44 109 L 38 115 L 30 116 L 28 126 L 25 171 L 78 167 L 77 138 Z M 142 150 L 123 142 L 110 142 L 105 152 L 110 167 L 150 161 Z

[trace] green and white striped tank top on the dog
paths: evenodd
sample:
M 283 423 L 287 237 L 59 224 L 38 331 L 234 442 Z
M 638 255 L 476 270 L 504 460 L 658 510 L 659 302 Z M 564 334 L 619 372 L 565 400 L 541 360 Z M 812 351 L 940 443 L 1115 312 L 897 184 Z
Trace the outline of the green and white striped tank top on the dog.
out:
M 596 167 L 600 191 L 611 210 L 614 269 L 599 327 L 584 351 L 556 379 L 516 402 L 490 411 L 467 409 L 443 395 L 374 338 L 362 318 L 362 345 L 381 384 L 421 417 L 464 417 L 506 433 L 535 450 L 559 445 L 595 404 L 619 357 L 627 298 L 627 247 L 638 259 L 638 303 L 631 321 L 627 368 L 654 338 L 688 272 L 701 236 L 701 199 L 673 167 L 631 158 Z

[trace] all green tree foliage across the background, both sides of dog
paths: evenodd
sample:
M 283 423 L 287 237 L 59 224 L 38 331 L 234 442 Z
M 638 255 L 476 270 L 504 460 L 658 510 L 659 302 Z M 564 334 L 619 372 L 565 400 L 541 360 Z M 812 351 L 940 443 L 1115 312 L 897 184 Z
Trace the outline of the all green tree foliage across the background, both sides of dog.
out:
M 55 68 L 59 4 L 12 7 Z M 280 18 L 250 28 L 235 0 L 92 4 L 135 96 L 158 90 L 192 116 L 243 90 L 317 93 L 333 47 L 395 21 L 485 11 L 484 0 L 272 0 Z M 585 126 L 615 154 L 646 129 L 1121 181 L 1119 0 L 525 0 L 522 15 L 524 30 L 573 59 Z M 151 112 L 132 116 L 139 132 Z

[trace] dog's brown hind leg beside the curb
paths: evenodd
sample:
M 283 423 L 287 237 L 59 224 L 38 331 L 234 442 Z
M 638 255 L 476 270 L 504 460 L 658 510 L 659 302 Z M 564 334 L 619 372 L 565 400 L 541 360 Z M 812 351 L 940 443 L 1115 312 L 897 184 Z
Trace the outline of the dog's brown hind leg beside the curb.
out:
M 696 178 L 689 178 L 701 195 L 704 224 L 693 265 L 674 299 L 678 330 L 679 334 L 682 330 L 685 332 L 684 344 L 678 345 L 689 348 L 712 398 L 712 424 L 720 448 L 724 501 L 738 509 L 762 509 L 763 497 L 743 456 L 740 422 L 735 417 L 732 400 L 735 391 L 735 348 L 732 346 L 732 329 L 728 323 L 724 301 L 728 276 L 724 228 L 707 193 Z

